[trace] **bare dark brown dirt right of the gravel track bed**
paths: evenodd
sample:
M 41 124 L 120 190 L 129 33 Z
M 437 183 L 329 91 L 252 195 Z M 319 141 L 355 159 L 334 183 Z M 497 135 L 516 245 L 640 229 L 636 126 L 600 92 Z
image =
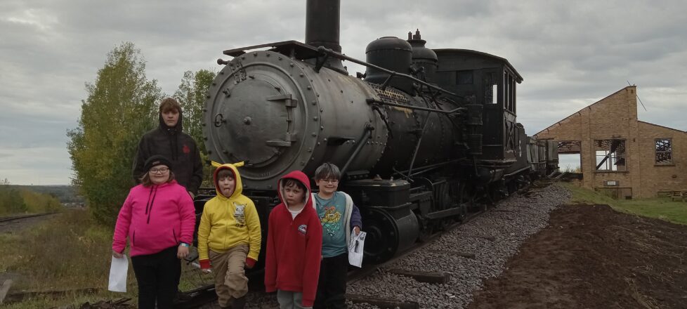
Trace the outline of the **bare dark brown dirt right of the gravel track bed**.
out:
M 687 226 L 566 205 L 469 308 L 687 308 Z

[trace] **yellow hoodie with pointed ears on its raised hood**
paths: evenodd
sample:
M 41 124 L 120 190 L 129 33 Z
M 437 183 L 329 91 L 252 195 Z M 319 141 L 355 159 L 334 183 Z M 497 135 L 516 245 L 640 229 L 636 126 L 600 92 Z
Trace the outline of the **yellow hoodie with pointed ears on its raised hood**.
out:
M 217 196 L 205 203 L 198 228 L 198 255 L 200 261 L 207 261 L 208 248 L 215 252 L 225 252 L 239 244 L 249 246 L 248 258 L 258 261 L 260 254 L 260 219 L 253 201 L 242 195 L 241 176 L 237 164 L 218 164 L 213 174 Z M 222 169 L 233 171 L 236 185 L 233 194 L 225 197 L 219 190 L 217 174 Z

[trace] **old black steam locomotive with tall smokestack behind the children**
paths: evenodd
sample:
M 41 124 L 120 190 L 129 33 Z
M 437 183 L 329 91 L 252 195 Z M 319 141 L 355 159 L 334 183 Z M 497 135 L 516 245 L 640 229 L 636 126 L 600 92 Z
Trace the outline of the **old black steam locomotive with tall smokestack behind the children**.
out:
M 340 0 L 308 0 L 305 43 L 234 48 L 218 60 L 205 143 L 216 162 L 245 162 L 243 192 L 263 228 L 279 178 L 332 162 L 362 214 L 365 262 L 378 263 L 556 168 L 554 145 L 516 122 L 523 77 L 508 60 L 433 50 L 419 31 L 350 58 L 339 10 Z M 353 77 L 342 61 L 366 72 Z

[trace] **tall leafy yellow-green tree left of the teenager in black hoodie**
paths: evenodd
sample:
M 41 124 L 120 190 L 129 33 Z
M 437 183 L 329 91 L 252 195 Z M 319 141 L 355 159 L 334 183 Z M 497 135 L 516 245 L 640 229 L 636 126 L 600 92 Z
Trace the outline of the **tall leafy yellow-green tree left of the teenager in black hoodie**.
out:
M 96 81 L 86 83 L 76 129 L 67 131 L 72 183 L 100 223 L 113 225 L 133 185 L 131 167 L 140 136 L 157 125 L 162 91 L 145 77 L 145 60 L 131 42 L 107 54 Z

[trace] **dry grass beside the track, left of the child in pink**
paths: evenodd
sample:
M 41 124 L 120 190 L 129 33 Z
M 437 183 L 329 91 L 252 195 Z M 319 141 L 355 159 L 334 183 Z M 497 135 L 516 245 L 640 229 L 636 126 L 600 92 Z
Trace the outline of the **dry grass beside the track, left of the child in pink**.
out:
M 132 298 L 138 287 L 129 263 L 126 293 L 107 291 L 112 261 L 112 228 L 93 222 L 88 211 L 69 210 L 40 225 L 0 234 L 0 277 L 13 277 L 8 294 L 20 291 L 66 291 L 96 288 L 95 294 L 36 296 L 1 308 L 52 308 L 119 298 Z M 131 261 L 131 260 L 130 260 Z M 212 275 L 182 263 L 182 291 L 212 284 Z

